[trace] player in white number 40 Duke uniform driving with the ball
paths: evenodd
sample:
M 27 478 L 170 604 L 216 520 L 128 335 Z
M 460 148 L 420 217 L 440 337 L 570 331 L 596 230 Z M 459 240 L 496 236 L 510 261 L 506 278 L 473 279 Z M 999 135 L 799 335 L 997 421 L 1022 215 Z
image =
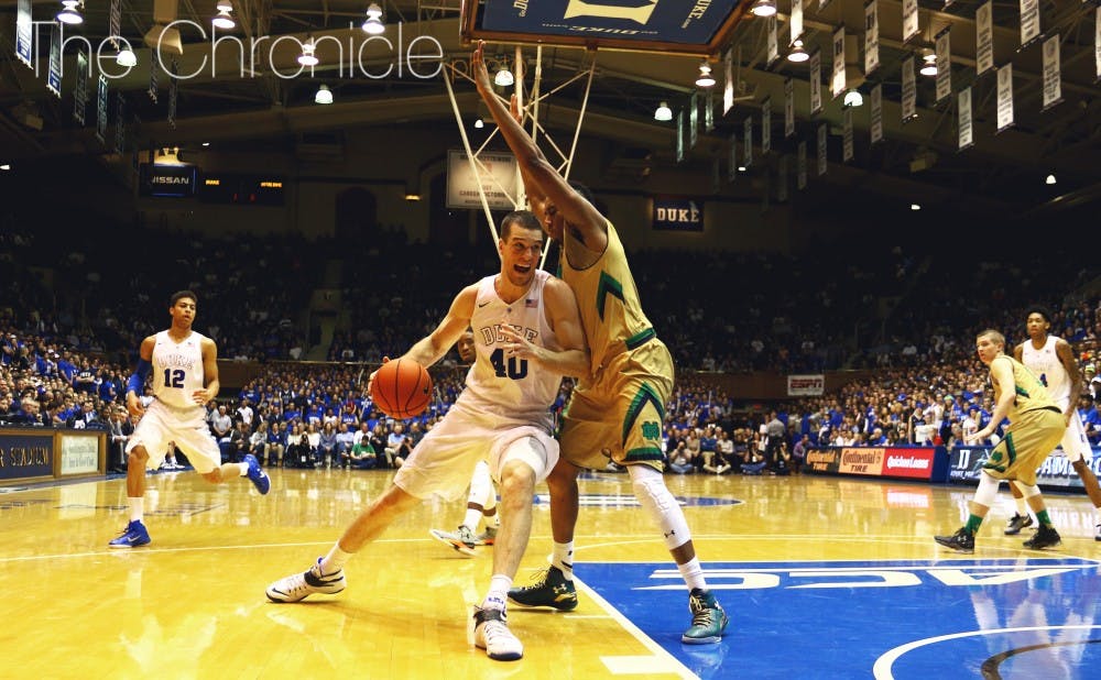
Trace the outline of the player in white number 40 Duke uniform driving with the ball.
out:
M 422 501 L 461 497 L 475 465 L 484 460 L 501 489 L 501 528 L 489 591 L 475 608 L 475 644 L 491 659 L 523 656 L 523 645 L 505 624 L 505 600 L 527 547 L 535 484 L 558 460 L 549 408 L 563 375 L 586 374 L 590 362 L 574 293 L 537 268 L 543 244 L 534 215 L 505 216 L 498 241 L 500 274 L 464 288 L 432 334 L 402 357 L 429 366 L 471 328 L 477 359 L 462 394 L 327 556 L 268 586 L 271 601 L 342 591 L 344 566 L 353 553 Z

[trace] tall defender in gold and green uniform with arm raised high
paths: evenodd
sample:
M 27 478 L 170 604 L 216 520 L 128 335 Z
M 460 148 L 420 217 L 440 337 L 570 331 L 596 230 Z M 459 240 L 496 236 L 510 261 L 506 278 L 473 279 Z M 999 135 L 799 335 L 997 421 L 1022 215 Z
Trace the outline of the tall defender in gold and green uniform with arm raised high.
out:
M 563 414 L 562 459 L 550 491 L 552 564 L 533 585 L 509 591 L 521 606 L 577 606 L 573 583 L 577 474 L 581 468 L 625 465 L 639 503 L 661 528 L 689 590 L 691 625 L 686 644 L 718 643 L 727 615 L 708 590 L 679 504 L 662 476 L 662 424 L 673 391 L 673 359 L 642 311 L 639 290 L 615 228 L 592 205 L 588 190 L 568 183 L 543 156 L 512 111 L 493 92 L 483 44 L 471 74 L 501 135 L 516 156 L 532 210 L 562 244 L 562 277 L 573 288 L 592 355 L 592 374 L 579 380 Z

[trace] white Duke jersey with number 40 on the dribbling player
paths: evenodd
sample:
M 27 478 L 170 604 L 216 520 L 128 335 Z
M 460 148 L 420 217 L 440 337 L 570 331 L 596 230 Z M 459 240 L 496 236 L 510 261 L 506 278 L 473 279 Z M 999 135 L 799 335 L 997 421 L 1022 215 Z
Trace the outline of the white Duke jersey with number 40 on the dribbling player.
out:
M 478 357 L 467 372 L 467 387 L 459 396 L 460 403 L 511 418 L 549 421 L 549 408 L 558 396 L 562 374 L 527 359 L 508 357 L 500 347 L 504 341 L 501 328 L 509 325 L 534 344 L 562 349 L 543 308 L 543 286 L 549 276 L 536 270 L 527 293 L 512 304 L 498 296 L 493 286 L 495 275 L 479 282 L 470 318 Z

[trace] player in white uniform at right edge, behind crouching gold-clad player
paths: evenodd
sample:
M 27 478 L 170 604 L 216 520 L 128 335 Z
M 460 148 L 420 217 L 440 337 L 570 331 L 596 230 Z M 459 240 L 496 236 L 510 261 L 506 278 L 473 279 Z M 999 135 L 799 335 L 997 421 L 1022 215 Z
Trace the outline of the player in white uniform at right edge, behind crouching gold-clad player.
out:
M 1014 358 L 1032 371 L 1047 387 L 1048 394 L 1062 409 L 1067 423 L 1067 431 L 1060 446 L 1081 478 L 1090 498 L 1098 512 L 1098 525 L 1094 539 L 1101 541 L 1101 491 L 1098 490 L 1097 478 L 1090 470 L 1092 450 L 1086 437 L 1086 428 L 1078 417 L 1078 397 L 1082 393 L 1082 377 L 1078 371 L 1078 362 L 1070 343 L 1058 336 L 1048 334 L 1051 329 L 1051 315 L 1043 307 L 1031 307 L 1025 317 L 1025 329 L 1028 339 L 1013 350 Z M 1021 491 L 1015 484 L 1010 484 L 1013 497 L 1017 503 L 1017 512 L 1010 518 L 1006 534 L 1017 534 L 1022 528 L 1033 524 L 1032 517 L 1021 497 Z

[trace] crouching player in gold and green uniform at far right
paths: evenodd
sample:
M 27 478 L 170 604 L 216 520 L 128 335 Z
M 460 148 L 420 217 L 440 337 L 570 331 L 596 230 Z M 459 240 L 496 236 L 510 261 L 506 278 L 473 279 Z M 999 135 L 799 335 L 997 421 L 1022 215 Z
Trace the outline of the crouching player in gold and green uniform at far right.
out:
M 1062 409 L 1032 371 L 1005 354 L 1005 336 L 986 329 L 977 336 L 975 349 L 979 360 L 990 366 L 994 413 L 986 427 L 968 437 L 968 443 L 990 437 L 1005 418 L 1010 419 L 1010 427 L 982 465 L 967 524 L 951 536 L 936 536 L 935 539 L 953 550 L 974 552 L 974 534 L 994 503 L 999 481 L 1011 480 L 1024 492 L 1028 506 L 1039 519 L 1039 529 L 1024 546 L 1033 549 L 1058 546 L 1061 542 L 1059 533 L 1051 526 L 1036 485 L 1036 470 L 1062 439 L 1067 427 Z

